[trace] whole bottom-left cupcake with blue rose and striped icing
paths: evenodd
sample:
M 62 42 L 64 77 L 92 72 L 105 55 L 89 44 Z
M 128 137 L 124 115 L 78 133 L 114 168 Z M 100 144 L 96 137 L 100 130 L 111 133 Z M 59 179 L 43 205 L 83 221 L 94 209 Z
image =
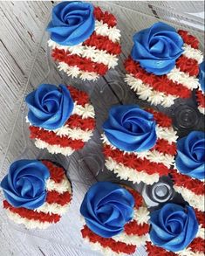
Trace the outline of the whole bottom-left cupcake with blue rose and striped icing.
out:
M 65 170 L 47 160 L 12 163 L 1 188 L 8 218 L 27 229 L 45 229 L 57 223 L 72 200 L 72 185 Z

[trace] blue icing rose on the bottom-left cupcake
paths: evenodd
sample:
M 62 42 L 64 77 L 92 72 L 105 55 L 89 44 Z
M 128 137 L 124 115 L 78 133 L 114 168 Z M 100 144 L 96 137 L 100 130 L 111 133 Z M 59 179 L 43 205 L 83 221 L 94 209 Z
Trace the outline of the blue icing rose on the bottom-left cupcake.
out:
M 47 167 L 37 160 L 18 160 L 10 165 L 1 187 L 6 200 L 14 207 L 37 209 L 45 202 Z

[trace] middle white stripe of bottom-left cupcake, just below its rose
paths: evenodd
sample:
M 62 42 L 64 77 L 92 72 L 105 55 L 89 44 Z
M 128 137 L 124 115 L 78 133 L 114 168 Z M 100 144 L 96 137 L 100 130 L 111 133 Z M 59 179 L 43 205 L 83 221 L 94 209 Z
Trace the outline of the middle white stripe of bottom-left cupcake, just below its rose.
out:
M 56 204 L 56 203 L 48 204 L 47 202 L 45 202 L 43 205 L 41 205 L 34 211 L 50 213 L 50 214 L 58 214 L 62 216 L 68 210 L 69 206 L 70 206 L 70 202 L 65 205 Z

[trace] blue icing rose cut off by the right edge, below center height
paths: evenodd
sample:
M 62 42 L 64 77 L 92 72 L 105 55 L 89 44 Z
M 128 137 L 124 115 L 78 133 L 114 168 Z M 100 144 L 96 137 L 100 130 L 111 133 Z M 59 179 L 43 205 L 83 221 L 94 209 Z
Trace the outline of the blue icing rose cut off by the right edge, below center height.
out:
M 176 168 L 182 174 L 205 178 L 205 133 L 193 131 L 177 142 Z

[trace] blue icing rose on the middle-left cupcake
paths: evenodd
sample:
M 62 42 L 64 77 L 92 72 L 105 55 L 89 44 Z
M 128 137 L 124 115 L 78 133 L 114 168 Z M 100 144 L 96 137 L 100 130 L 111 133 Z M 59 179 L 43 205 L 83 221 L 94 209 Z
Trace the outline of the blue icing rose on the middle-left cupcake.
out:
M 59 89 L 60 88 L 60 89 Z M 32 125 L 53 130 L 65 124 L 72 114 L 73 100 L 64 85 L 42 84 L 25 98 Z

